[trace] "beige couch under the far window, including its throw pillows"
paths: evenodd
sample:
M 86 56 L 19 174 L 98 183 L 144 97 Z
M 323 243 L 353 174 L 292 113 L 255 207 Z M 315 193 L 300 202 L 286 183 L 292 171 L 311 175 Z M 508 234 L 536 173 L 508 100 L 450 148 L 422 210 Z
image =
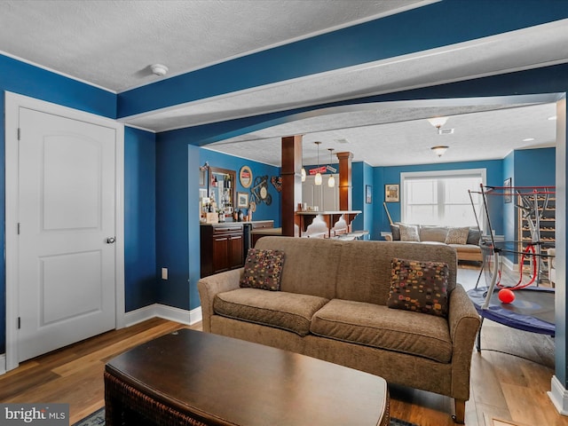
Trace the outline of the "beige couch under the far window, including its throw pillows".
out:
M 455 248 L 458 260 L 483 262 L 479 241 L 481 231 L 477 227 L 450 227 L 433 225 L 390 225 L 387 241 L 414 241 L 447 244 Z

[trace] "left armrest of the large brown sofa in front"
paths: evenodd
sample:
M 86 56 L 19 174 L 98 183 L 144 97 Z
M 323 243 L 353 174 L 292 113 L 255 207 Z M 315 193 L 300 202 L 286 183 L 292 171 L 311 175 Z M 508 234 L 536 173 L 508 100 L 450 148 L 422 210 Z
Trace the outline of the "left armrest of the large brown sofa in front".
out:
M 220 272 L 197 281 L 197 289 L 201 299 L 201 315 L 203 317 L 203 331 L 210 333 L 211 316 L 213 315 L 213 301 L 217 293 L 239 288 L 241 274 L 244 268 Z

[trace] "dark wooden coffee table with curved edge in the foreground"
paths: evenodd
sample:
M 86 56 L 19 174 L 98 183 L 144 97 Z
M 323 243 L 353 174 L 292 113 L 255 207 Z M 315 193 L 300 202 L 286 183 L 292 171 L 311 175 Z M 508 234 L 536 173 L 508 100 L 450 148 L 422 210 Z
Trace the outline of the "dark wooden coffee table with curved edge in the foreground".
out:
M 105 369 L 106 426 L 389 424 L 382 377 L 181 329 Z

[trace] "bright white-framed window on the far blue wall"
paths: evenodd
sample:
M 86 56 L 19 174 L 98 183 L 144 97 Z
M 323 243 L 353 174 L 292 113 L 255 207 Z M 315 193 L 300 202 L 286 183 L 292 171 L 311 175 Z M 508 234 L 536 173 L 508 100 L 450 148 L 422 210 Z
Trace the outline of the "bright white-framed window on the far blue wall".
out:
M 400 178 L 403 222 L 445 226 L 479 223 L 483 229 L 483 201 L 478 192 L 479 185 L 485 184 L 485 169 L 401 173 Z

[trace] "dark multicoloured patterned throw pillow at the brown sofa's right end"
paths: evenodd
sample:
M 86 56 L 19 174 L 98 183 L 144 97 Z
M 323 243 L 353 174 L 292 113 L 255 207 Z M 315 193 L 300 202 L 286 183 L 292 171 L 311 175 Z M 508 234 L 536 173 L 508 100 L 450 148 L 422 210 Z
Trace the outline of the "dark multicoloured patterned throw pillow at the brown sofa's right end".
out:
M 448 266 L 394 258 L 391 261 L 387 306 L 393 309 L 447 316 Z

